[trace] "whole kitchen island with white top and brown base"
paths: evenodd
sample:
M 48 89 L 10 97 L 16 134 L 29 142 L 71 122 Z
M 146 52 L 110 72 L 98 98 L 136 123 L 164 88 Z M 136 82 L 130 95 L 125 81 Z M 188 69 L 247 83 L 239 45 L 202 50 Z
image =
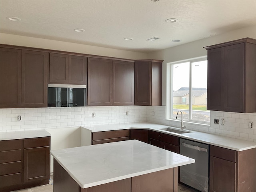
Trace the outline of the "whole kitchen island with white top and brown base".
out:
M 138 140 L 50 152 L 54 192 L 176 192 L 178 166 L 194 159 Z

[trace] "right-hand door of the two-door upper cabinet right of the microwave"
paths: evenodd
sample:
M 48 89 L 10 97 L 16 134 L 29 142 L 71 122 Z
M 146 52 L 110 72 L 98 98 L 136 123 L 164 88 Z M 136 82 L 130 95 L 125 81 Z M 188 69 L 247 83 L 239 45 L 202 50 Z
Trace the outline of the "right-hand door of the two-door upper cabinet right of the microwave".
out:
M 134 63 L 113 61 L 113 105 L 134 104 Z

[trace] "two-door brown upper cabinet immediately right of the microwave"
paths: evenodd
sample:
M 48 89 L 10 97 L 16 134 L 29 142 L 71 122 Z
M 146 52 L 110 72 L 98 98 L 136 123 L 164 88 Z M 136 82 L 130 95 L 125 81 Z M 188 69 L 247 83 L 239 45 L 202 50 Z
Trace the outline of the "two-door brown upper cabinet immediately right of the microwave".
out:
M 133 105 L 134 63 L 88 58 L 88 106 Z

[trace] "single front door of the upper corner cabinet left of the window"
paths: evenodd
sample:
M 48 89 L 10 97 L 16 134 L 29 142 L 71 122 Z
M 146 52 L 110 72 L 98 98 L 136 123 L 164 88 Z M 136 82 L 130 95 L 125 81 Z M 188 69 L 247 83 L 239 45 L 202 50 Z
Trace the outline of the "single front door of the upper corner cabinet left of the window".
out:
M 151 105 L 152 62 L 135 62 L 134 105 Z

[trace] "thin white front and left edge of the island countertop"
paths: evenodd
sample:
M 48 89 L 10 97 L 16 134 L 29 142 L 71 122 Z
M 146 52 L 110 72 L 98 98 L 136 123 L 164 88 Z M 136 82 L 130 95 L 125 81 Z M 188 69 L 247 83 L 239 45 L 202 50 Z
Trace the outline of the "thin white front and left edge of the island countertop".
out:
M 153 172 L 157 172 L 157 171 L 162 171 L 162 170 L 166 170 L 166 169 L 170 169 L 170 168 L 174 168 L 174 167 L 178 167 L 178 166 L 182 166 L 182 165 L 187 165 L 187 164 L 192 164 L 195 162 L 194 159 L 191 159 L 187 162 L 182 162 L 182 163 L 177 163 L 175 165 L 170 165 L 170 166 L 164 166 L 164 167 L 160 167 L 160 168 L 155 168 L 155 169 L 151 169 L 151 170 L 145 170 L 145 171 L 141 171 L 141 172 L 136 172 L 133 174 L 127 174 L 124 176 L 118 176 L 118 177 L 114 177 L 114 178 L 110 178 L 110 179 L 106 179 L 106 180 L 102 180 L 102 181 L 97 181 L 97 182 L 92 182 L 90 184 L 82 184 L 78 179 L 76 179 L 76 177 L 66 168 L 66 166 L 64 166 L 59 160 L 58 158 L 56 158 L 56 156 L 54 154 L 52 154 L 52 152 L 50 152 L 50 154 L 54 157 L 54 159 L 62 166 L 62 168 L 64 168 L 64 170 L 66 170 L 66 172 L 68 172 L 68 174 L 77 182 L 77 184 L 81 187 L 81 188 L 89 188 L 89 187 L 93 187 L 93 186 L 98 186 L 101 184 L 106 184 L 106 183 L 110 183 L 110 182 L 115 182 L 115 181 L 119 181 L 119 180 L 123 180 L 123 179 L 127 179 L 127 178 L 132 178 L 132 177 L 136 177 L 136 176 L 140 176 L 140 175 L 144 175 L 144 174 L 148 174 L 148 173 L 153 173 Z

